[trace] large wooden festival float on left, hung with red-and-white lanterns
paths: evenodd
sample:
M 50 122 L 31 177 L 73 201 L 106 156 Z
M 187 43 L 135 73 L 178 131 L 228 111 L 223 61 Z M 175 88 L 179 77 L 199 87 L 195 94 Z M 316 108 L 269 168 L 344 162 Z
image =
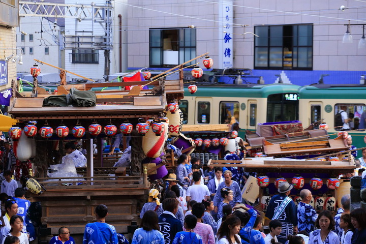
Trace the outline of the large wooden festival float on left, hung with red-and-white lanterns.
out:
M 45 189 L 40 195 L 29 193 L 31 201 L 42 204 L 45 224 L 39 232 L 42 238 L 57 234 L 60 226 L 67 226 L 74 237 L 81 236 L 85 225 L 96 220 L 94 208 L 98 204 L 108 206 L 107 221 L 118 233 L 127 233 L 129 226 L 136 225 L 138 208 L 146 202 L 150 189 L 147 175 L 154 179 L 159 170 L 156 178 L 166 175 L 164 145 L 168 135 L 178 135 L 181 130 L 182 113 L 177 101 L 184 97 L 182 70 L 187 68 L 184 65 L 206 54 L 151 79 L 151 74 L 144 72 L 145 81 L 76 85 L 62 82 L 57 87 L 57 95 L 37 87 L 38 67 L 31 69 L 35 74 L 32 93 L 20 94 L 17 84 L 12 82 L 10 114 L 20 121 L 11 129 L 14 137 L 17 136 L 13 139 L 18 139 L 14 140 L 15 152 L 21 161 L 32 158 L 35 178 Z M 169 72 L 180 72 L 179 80 L 165 80 Z M 202 69 L 192 71 L 193 75 L 199 73 L 202 75 Z M 148 89 L 142 89 L 143 86 Z M 197 88 L 194 86 L 191 89 Z M 70 103 L 73 106 L 68 106 Z M 109 157 L 103 154 L 103 139 L 116 134 L 115 125 L 120 125 L 120 131 L 131 137 L 130 168 L 112 167 Z M 75 140 L 82 140 L 87 151 L 86 167 L 76 169 L 82 176 L 47 177 L 48 167 L 59 164 L 65 155 L 64 144 Z M 96 155 L 93 155 L 93 141 L 97 144 Z M 191 152 L 195 145 L 189 143 Z M 159 163 L 155 162 L 159 157 L 162 157 Z M 150 164 L 142 164 L 146 159 Z

